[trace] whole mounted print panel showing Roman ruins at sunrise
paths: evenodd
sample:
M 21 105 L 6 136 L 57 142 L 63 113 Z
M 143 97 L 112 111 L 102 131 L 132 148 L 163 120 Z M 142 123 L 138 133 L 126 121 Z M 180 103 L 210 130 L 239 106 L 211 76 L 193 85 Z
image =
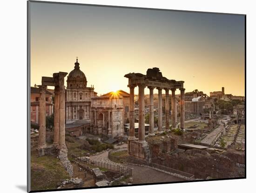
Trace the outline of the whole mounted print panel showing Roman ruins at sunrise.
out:
M 27 3 L 28 192 L 246 178 L 245 15 Z

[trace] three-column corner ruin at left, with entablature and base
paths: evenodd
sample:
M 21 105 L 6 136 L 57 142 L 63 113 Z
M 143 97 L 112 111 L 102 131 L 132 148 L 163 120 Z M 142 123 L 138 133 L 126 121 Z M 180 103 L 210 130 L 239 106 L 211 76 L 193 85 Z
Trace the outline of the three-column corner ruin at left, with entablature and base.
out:
M 39 136 L 37 155 L 58 155 L 62 166 L 70 176 L 73 175 L 73 166 L 67 158 L 65 143 L 65 86 L 64 78 L 67 73 L 54 73 L 53 77 L 42 77 L 39 100 Z M 54 143 L 46 144 L 46 87 L 54 86 Z

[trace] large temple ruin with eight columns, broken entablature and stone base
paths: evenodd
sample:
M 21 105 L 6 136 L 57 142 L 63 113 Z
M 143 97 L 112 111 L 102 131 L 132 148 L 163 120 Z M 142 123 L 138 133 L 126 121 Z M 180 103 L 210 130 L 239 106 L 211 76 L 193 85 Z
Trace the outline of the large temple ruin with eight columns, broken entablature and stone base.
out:
M 176 127 L 175 112 L 175 90 L 181 91 L 181 128 L 184 128 L 185 111 L 184 111 L 184 81 L 168 80 L 162 76 L 159 68 L 147 70 L 147 75 L 141 73 L 128 73 L 124 77 L 128 78 L 128 87 L 130 88 L 130 127 L 128 140 L 129 155 L 150 162 L 148 144 L 145 140 L 145 100 L 144 89 L 148 87 L 150 105 L 149 105 L 149 133 L 154 133 L 154 104 L 153 91 L 158 90 L 158 131 L 162 131 L 162 90 L 165 90 L 165 130 L 169 131 L 169 90 L 172 92 L 172 128 Z M 134 113 L 134 88 L 139 87 L 139 130 L 138 139 L 135 138 L 135 113 Z

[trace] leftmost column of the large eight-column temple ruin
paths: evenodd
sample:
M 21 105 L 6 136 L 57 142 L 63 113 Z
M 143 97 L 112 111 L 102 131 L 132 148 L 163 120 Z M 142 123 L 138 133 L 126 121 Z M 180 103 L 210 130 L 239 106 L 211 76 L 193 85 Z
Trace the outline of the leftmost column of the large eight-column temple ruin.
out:
M 129 140 L 135 140 L 135 116 L 134 116 L 134 86 L 129 86 L 130 88 L 130 111 L 129 111 Z

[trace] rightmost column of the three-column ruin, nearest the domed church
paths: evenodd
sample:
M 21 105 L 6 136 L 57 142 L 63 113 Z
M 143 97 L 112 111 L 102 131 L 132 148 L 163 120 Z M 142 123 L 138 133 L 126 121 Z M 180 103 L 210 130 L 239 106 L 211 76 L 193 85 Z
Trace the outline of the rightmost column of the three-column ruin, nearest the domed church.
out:
M 65 144 L 65 86 L 64 77 L 67 73 L 60 73 L 60 110 L 59 110 L 59 149 L 66 148 Z

